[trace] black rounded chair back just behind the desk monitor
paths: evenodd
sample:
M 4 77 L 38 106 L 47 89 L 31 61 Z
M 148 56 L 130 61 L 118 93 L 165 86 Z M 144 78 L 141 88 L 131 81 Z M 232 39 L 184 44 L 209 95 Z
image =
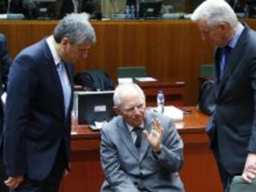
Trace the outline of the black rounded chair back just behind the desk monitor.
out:
M 85 70 L 75 75 L 76 85 L 82 85 L 88 91 L 113 90 L 111 78 L 103 70 Z

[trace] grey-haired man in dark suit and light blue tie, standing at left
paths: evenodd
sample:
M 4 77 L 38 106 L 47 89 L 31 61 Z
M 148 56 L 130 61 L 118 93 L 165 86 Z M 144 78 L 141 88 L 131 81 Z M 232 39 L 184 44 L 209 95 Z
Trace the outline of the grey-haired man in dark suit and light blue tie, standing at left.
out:
M 69 170 L 73 67 L 95 43 L 86 14 L 69 14 L 53 35 L 25 48 L 9 73 L 4 162 L 13 191 L 58 192 Z

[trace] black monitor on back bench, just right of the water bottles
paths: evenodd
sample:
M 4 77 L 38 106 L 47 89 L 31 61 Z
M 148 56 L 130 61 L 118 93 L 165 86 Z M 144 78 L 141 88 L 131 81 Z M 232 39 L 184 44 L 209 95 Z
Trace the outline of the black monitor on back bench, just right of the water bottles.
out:
M 162 1 L 141 1 L 139 3 L 139 17 L 143 19 L 157 19 L 160 17 Z

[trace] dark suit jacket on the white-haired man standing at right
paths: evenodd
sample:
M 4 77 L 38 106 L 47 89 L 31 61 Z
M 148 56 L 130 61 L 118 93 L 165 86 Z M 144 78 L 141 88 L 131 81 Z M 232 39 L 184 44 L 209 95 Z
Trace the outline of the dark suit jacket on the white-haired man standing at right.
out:
M 223 79 L 216 77 L 215 94 L 216 109 L 207 125 L 211 147 L 218 146 L 229 174 L 241 175 L 247 153 L 256 152 L 256 33 L 247 26 L 231 51 Z

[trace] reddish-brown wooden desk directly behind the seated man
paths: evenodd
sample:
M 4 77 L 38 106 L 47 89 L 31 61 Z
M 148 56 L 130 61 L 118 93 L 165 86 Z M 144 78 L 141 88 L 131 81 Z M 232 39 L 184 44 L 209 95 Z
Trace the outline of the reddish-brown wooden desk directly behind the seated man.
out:
M 189 192 L 221 191 L 218 170 L 204 131 L 208 116 L 197 112 L 195 107 L 190 109 L 192 114 L 185 115 L 184 122 L 176 123 L 185 144 L 182 181 Z M 62 191 L 98 192 L 104 179 L 100 165 L 100 133 L 91 131 L 87 125 L 74 125 L 72 130 L 71 173 L 64 178 Z

